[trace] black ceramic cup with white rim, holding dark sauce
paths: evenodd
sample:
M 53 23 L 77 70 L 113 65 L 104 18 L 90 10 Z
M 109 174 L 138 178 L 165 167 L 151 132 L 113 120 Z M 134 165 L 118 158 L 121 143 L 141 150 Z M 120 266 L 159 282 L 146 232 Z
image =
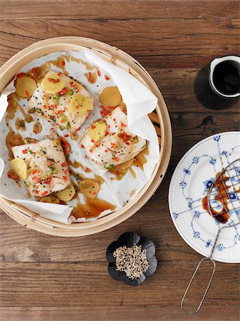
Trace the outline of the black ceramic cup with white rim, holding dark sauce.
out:
M 240 57 L 218 57 L 199 71 L 194 81 L 194 92 L 205 107 L 224 109 L 239 100 L 239 83 Z

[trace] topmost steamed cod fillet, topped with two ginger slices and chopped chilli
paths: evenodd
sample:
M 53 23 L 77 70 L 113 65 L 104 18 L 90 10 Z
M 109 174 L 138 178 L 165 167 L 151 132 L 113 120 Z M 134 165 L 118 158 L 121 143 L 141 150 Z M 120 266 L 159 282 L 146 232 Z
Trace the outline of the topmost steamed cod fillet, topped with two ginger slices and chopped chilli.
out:
M 74 95 L 80 94 L 88 98 L 93 106 L 94 98 L 85 87 L 63 73 L 48 71 L 44 79 L 48 79 L 53 74 L 64 82 L 63 89 L 58 93 L 46 93 L 41 83 L 33 93 L 33 96 L 31 96 L 31 100 L 28 103 L 28 112 L 41 115 L 48 121 L 55 123 L 58 128 L 66 128 L 74 133 L 83 125 L 90 111 L 86 111 L 83 115 L 71 112 L 71 99 Z

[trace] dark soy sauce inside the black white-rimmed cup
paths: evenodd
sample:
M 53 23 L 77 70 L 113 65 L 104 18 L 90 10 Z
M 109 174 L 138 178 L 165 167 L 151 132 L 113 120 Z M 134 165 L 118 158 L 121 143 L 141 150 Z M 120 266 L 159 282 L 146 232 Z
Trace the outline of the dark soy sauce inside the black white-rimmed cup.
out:
M 236 61 L 219 63 L 213 73 L 216 89 L 224 95 L 235 95 L 240 92 L 240 67 Z

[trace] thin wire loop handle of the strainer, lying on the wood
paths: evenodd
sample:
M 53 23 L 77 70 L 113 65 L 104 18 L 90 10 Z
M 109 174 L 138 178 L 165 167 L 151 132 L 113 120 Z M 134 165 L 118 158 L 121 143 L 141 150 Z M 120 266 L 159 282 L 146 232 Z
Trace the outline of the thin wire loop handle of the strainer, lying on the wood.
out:
M 209 261 L 212 262 L 212 275 L 211 275 L 211 277 L 210 277 L 210 279 L 209 279 L 209 283 L 208 283 L 207 288 L 206 288 L 206 290 L 205 290 L 205 292 L 204 292 L 204 295 L 203 295 L 203 297 L 202 297 L 202 300 L 201 300 L 201 302 L 199 303 L 199 306 L 197 307 L 197 310 L 195 310 L 195 311 L 188 311 L 188 310 L 186 310 L 186 309 L 184 308 L 184 300 L 185 300 L 185 297 L 187 296 L 187 292 L 189 291 L 189 287 L 191 287 L 192 281 L 194 280 L 194 277 L 195 277 L 197 271 L 199 270 L 199 267 L 202 265 L 202 263 L 203 263 L 205 260 L 209 260 Z M 193 273 L 192 278 L 191 278 L 191 280 L 190 280 L 190 282 L 189 282 L 189 284 L 188 284 L 188 286 L 187 286 L 187 289 L 186 289 L 186 291 L 185 291 L 185 293 L 184 293 L 184 296 L 182 297 L 181 307 L 182 307 L 182 310 L 183 310 L 185 313 L 187 313 L 188 315 L 194 315 L 195 313 L 199 312 L 199 310 L 201 309 L 202 303 L 204 302 L 204 299 L 205 299 L 205 297 L 206 297 L 206 295 L 207 295 L 207 292 L 208 292 L 208 290 L 209 290 L 209 287 L 210 287 L 210 285 L 211 285 L 211 283 L 212 283 L 212 279 L 213 279 L 213 277 L 214 277 L 215 270 L 216 270 L 216 264 L 215 264 L 214 260 L 213 260 L 211 257 L 209 257 L 209 258 L 202 258 L 202 260 L 199 261 L 199 264 L 197 265 L 196 269 L 194 270 L 194 273 Z

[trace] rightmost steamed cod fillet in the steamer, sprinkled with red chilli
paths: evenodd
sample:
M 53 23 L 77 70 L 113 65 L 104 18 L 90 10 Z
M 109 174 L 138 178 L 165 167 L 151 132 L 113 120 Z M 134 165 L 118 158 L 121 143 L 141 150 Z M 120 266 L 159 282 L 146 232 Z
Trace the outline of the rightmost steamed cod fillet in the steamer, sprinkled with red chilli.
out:
M 93 132 L 96 128 L 98 133 L 95 134 Z M 121 107 L 93 123 L 80 143 L 98 170 L 109 170 L 125 163 L 147 146 L 144 138 L 130 132 L 127 115 Z

